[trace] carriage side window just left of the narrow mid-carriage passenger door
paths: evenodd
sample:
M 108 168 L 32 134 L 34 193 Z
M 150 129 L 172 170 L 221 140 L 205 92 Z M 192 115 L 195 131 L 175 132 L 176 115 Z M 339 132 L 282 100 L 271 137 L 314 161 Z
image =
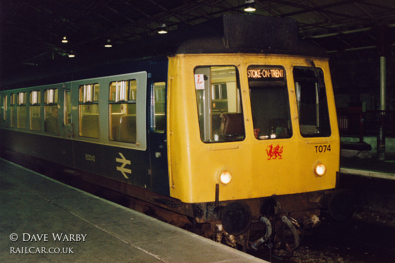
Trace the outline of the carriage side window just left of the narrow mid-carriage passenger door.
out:
M 44 131 L 59 134 L 58 89 L 44 91 Z

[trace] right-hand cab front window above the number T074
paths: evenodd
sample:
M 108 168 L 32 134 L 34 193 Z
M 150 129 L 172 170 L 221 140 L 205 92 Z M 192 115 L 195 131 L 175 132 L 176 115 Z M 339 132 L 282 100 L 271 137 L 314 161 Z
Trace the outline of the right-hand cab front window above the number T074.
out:
M 303 137 L 331 135 L 328 101 L 322 69 L 294 67 L 295 95 L 299 129 Z

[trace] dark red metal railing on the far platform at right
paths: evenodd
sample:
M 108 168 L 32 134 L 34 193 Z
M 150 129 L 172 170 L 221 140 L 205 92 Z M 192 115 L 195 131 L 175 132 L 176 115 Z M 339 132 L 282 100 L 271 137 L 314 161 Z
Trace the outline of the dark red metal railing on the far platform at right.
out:
M 343 137 L 377 136 L 380 125 L 384 125 L 385 136 L 395 137 L 395 111 L 338 113 L 337 120 Z

